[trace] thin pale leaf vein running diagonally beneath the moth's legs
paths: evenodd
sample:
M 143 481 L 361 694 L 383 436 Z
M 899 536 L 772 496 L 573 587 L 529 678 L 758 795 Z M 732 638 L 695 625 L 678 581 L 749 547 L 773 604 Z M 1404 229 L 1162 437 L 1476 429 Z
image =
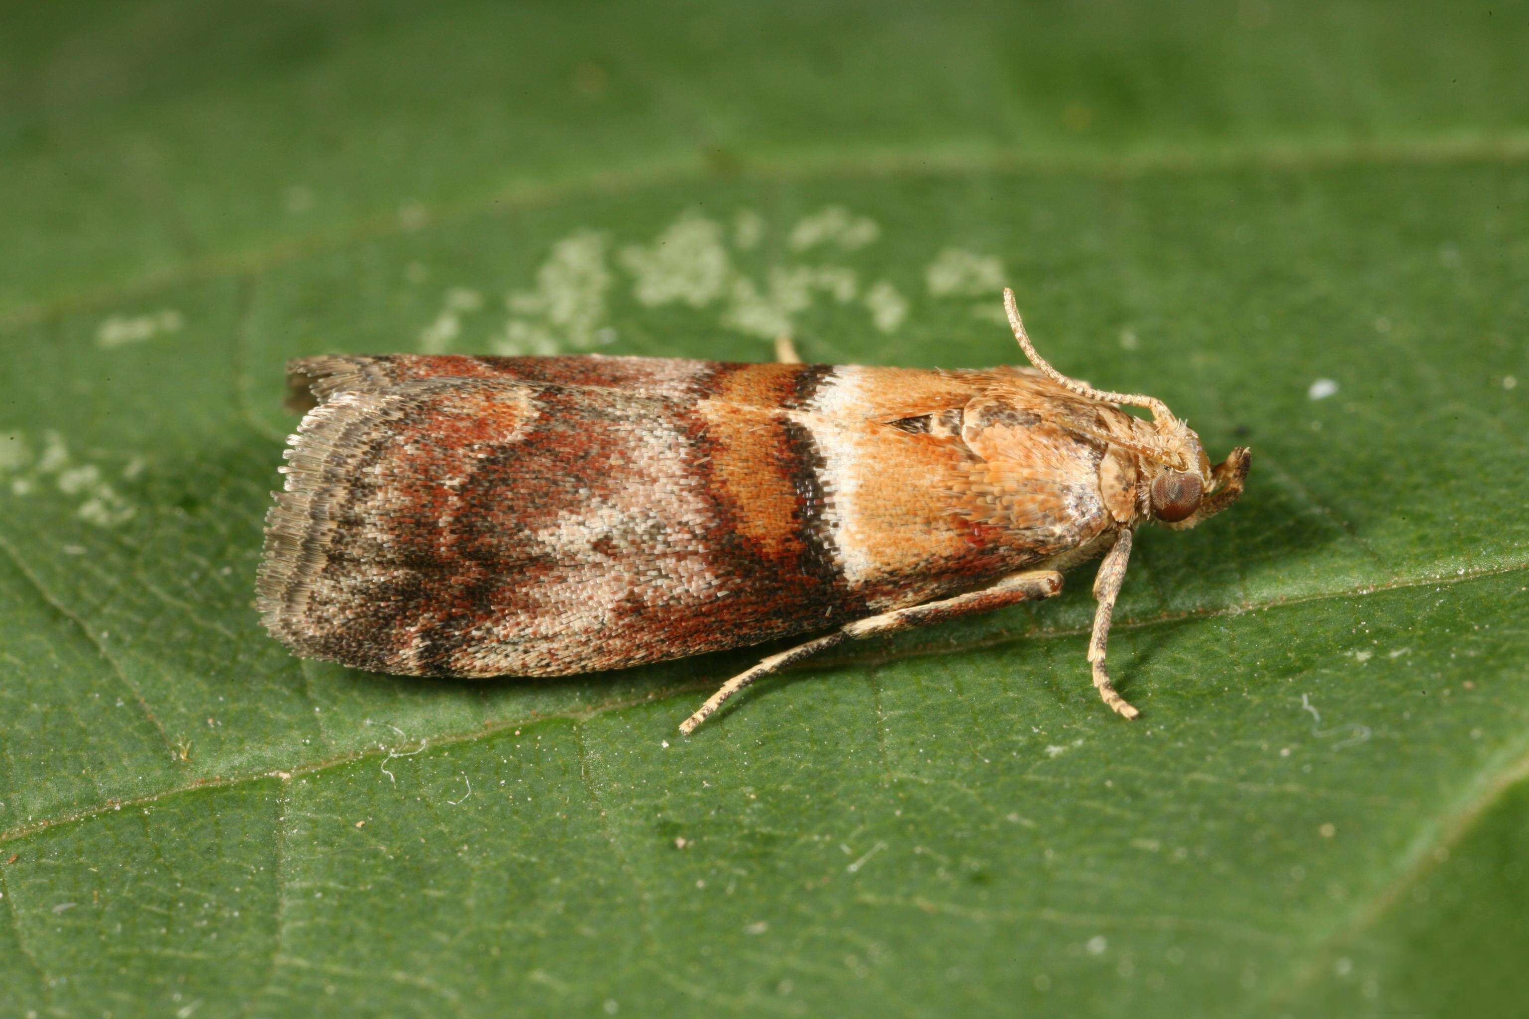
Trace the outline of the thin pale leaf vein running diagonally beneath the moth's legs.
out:
M 0 548 L 5 548 L 5 547 L 6 545 L 3 542 L 0 542 Z M 1454 587 L 1454 585 L 1459 585 L 1459 584 L 1469 584 L 1469 582 L 1475 582 L 1475 581 L 1486 581 L 1486 579 L 1492 579 L 1492 577 L 1497 577 L 1497 576 L 1505 576 L 1505 574 L 1511 574 L 1511 573 L 1524 573 L 1524 571 L 1529 571 L 1529 562 L 1514 562 L 1514 564 L 1497 565 L 1497 567 L 1489 567 L 1489 568 L 1482 568 L 1482 570 L 1466 570 L 1463 573 L 1456 573 L 1456 574 L 1445 576 L 1445 577 L 1434 577 L 1434 576 L 1430 576 L 1430 577 L 1411 577 L 1411 579 L 1399 579 L 1399 581 L 1391 581 L 1391 582 L 1387 582 L 1387 584 L 1365 585 L 1365 587 L 1350 588 L 1350 590 L 1342 590 L 1342 591 L 1326 591 L 1326 593 L 1318 593 L 1318 594 L 1306 594 L 1306 596 L 1290 597 L 1290 599 L 1269 599 L 1269 600 L 1264 600 L 1264 602 L 1234 605 L 1234 607 L 1223 607 L 1223 608 L 1188 610 L 1188 611 L 1180 611 L 1180 613 L 1162 613 L 1159 616 L 1147 616 L 1147 617 L 1138 617 L 1138 619 L 1121 619 L 1121 620 L 1116 620 L 1115 631 L 1121 631 L 1121 629 L 1142 629 L 1142 628 L 1150 628 L 1150 626 L 1165 626 L 1165 625 L 1173 625 L 1173 623 L 1179 623 L 1179 622 L 1185 622 L 1185 620 L 1231 619 L 1231 617 L 1240 617 L 1240 616 L 1251 616 L 1251 614 L 1263 613 L 1263 611 L 1277 611 L 1277 610 L 1295 608 L 1295 607 L 1301 607 L 1301 605 L 1310 605 L 1310 603 L 1315 603 L 1315 602 L 1329 602 L 1329 600 L 1341 600 L 1341 599 L 1350 599 L 1350 597 L 1364 597 L 1364 596 L 1370 596 L 1370 594 L 1384 594 L 1384 593 L 1388 593 L 1388 591 L 1399 591 L 1399 590 L 1408 590 L 1408 588 L 1417 588 L 1417 587 L 1428 587 L 1428 585 Z M 46 590 L 41 588 L 40 585 L 37 585 L 37 581 L 32 579 L 29 573 L 23 571 L 23 576 L 28 576 L 28 579 L 34 584 L 34 587 L 37 588 L 37 593 L 38 593 L 40 597 L 47 599 L 47 603 L 54 605 L 54 602 L 47 597 Z M 57 608 L 57 605 L 55 605 L 55 608 Z M 995 648 L 995 646 L 1005 646 L 1005 645 L 1009 645 L 1009 643 L 1015 643 L 1018 640 L 1050 640 L 1050 639 L 1063 639 L 1063 637 L 1076 637 L 1076 636 L 1087 634 L 1087 632 L 1089 632 L 1087 626 L 1037 628 L 1037 629 L 1032 629 L 1032 631 L 1027 631 L 1027 632 L 1023 632 L 1023 634 L 1003 634 L 1003 636 L 998 636 L 998 637 L 991 637 L 991 639 L 983 639 L 983 640 L 972 640 L 972 642 L 965 642 L 965 643 L 957 643 L 957 645 L 940 645 L 940 646 L 913 648 L 913 649 L 898 651 L 898 652 L 891 652 L 891 654 L 887 654 L 887 652 L 881 652 L 881 654 L 872 652 L 872 654 L 865 654 L 865 655 L 836 655 L 836 657 L 832 657 L 832 658 L 826 657 L 826 658 L 816 660 L 813 668 L 821 668 L 821 666 L 826 666 L 826 665 L 865 665 L 865 666 L 870 666 L 870 665 L 879 665 L 879 663 L 894 662 L 894 660 L 902 660 L 902 658 L 927 657 L 927 655 L 933 655 L 933 654 L 963 654 L 963 652 L 980 651 L 980 649 L 988 649 L 988 648 Z M 104 651 L 102 651 L 102 657 L 104 657 Z M 245 785 L 248 782 L 261 782 L 261 781 L 271 781 L 271 779 L 280 781 L 280 782 L 284 784 L 284 782 L 289 782 L 294 778 L 303 778 L 303 776 L 309 776 L 309 775 L 315 775 L 315 773 L 323 773 L 323 772 L 329 772 L 329 770 L 335 770 L 335 768 L 341 768 L 341 767 L 349 767 L 352 764 L 356 764 L 358 761 L 382 759 L 382 758 L 387 758 L 388 755 L 404 753 L 405 749 L 417 752 L 417 750 L 424 750 L 427 747 L 456 746 L 456 744 L 462 744 L 462 742 L 471 742 L 474 739 L 482 739 L 482 738 L 494 736 L 494 735 L 497 735 L 497 733 L 500 733 L 500 732 L 503 732 L 506 729 L 526 729 L 526 727 L 541 726 L 541 724 L 547 724 L 547 723 L 553 723 L 553 721 L 581 723 L 581 721 L 587 721 L 590 718 L 596 718 L 596 717 L 604 715 L 604 713 L 612 712 L 612 710 L 622 710 L 622 709 L 627 709 L 627 707 L 638 707 L 638 706 L 642 706 L 642 704 L 651 704 L 653 701 L 661 700 L 661 698 L 662 700 L 673 700 L 674 697 L 679 697 L 680 694 L 690 694 L 690 692 L 696 692 L 696 691 L 708 691 L 709 692 L 714 686 L 716 686 L 716 683 L 713 683 L 709 680 L 705 681 L 705 683 L 683 683 L 683 684 L 677 684 L 677 686 L 668 687 L 667 691 L 664 691 L 662 695 L 648 692 L 648 694 L 644 694 L 641 697 L 613 698 L 613 700 L 604 701 L 601 704 L 596 704 L 596 706 L 584 709 L 584 710 L 538 712 L 538 713 L 532 713 L 532 715 L 526 715 L 526 717 L 520 717 L 520 718 L 486 723 L 483 726 L 479 726 L 479 727 L 474 727 L 474 729 L 469 729 L 469 730 L 462 730 L 462 732 L 454 732 L 454 733 L 440 733 L 440 735 L 436 735 L 436 736 L 425 736 L 424 739 L 404 739 L 404 741 L 399 741 L 399 742 L 394 742 L 394 744 L 381 744 L 379 742 L 375 747 L 368 747 L 365 750 L 352 750 L 352 752 L 346 752 L 346 753 L 338 753 L 335 756 L 324 758 L 324 759 L 320 759 L 320 761 L 310 761 L 307 764 L 292 765 L 291 768 L 266 768 L 266 770 L 260 770 L 260 772 L 246 772 L 246 773 L 232 775 L 232 776 L 199 778 L 199 779 L 193 779 L 190 782 L 180 784 L 180 785 L 165 787 L 165 788 L 162 788 L 159 791 L 148 793 L 145 796 L 136 796 L 136 797 L 131 797 L 131 799 L 106 799 L 101 804 L 95 804 L 92 807 L 86 807 L 86 808 L 80 808 L 80 810 L 72 810 L 72 811 L 67 811 L 64 814 L 58 814 L 55 817 L 46 817 L 43 820 L 32 820 L 32 822 L 28 822 L 24 825 L 18 825 L 15 828 L 9 828 L 6 831 L 0 831 L 0 845 L 5 845 L 6 842 L 12 842 L 12 840 L 17 840 L 17 839 L 23 839 L 26 836 L 37 834 L 38 831 L 44 831 L 47 828 L 57 828 L 58 825 L 67 825 L 67 823 L 75 823 L 75 822 L 81 822 L 81 820 L 89 820 L 90 817 L 104 814 L 107 811 L 115 811 L 115 810 L 119 810 L 122 807 L 141 807 L 141 805 L 153 804 L 156 801 L 165 799 L 168 796 L 176 796 L 176 794 L 180 794 L 180 793 L 190 793 L 190 791 L 194 791 L 194 790 L 205 790 L 205 788 L 234 788 L 234 787 Z M 1529 761 L 1524 761 L 1524 762 L 1520 762 L 1520 764 L 1524 765 L 1524 767 L 1529 767 Z M 1482 776 L 1479 775 L 1477 778 L 1479 778 L 1477 785 L 1480 785 Z M 1488 784 L 1492 785 L 1491 782 L 1488 782 Z M 1512 782 L 1509 782 L 1509 785 L 1511 784 Z M 1495 788 L 1495 785 L 1492 785 L 1492 788 Z

